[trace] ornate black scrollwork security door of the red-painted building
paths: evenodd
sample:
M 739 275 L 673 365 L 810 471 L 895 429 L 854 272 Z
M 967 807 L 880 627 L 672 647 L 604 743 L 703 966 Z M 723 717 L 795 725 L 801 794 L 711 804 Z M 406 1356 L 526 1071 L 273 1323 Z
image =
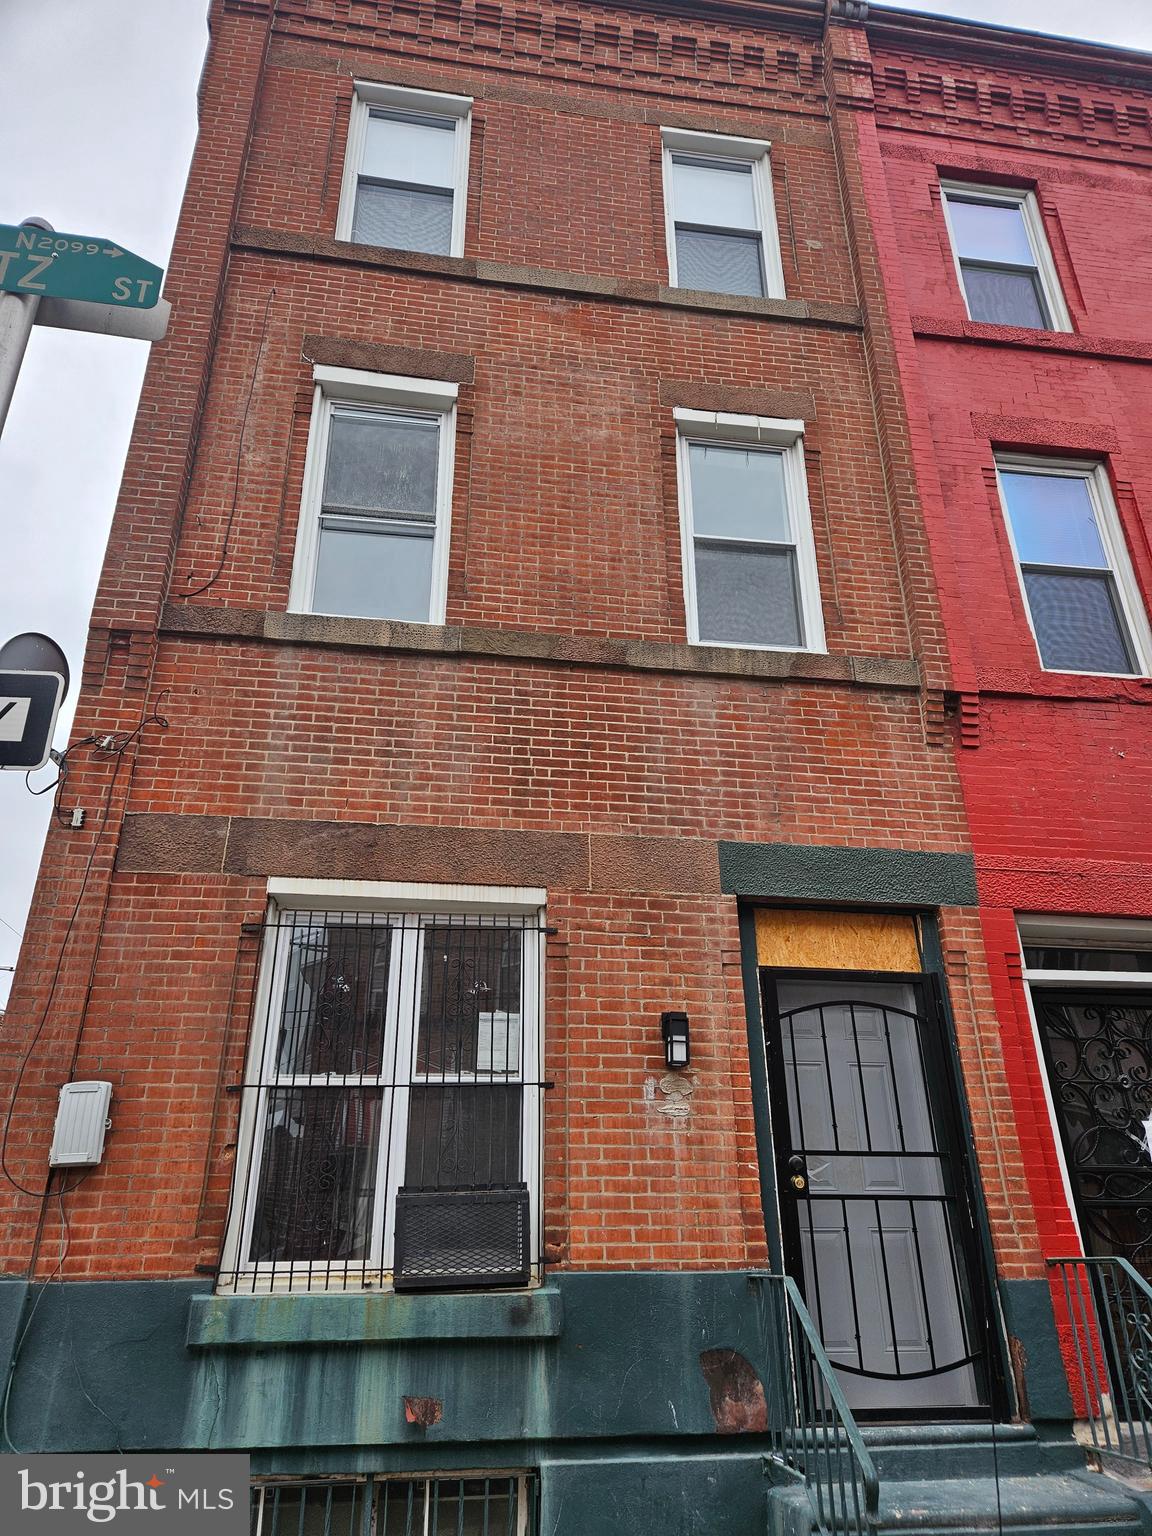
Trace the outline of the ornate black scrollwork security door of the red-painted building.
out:
M 1032 992 L 1084 1250 L 1152 1279 L 1152 992 Z

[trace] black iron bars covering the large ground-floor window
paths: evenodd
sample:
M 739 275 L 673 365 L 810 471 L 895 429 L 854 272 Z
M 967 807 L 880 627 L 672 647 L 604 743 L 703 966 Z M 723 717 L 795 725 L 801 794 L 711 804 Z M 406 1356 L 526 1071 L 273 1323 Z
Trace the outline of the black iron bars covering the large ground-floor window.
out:
M 538 912 L 272 909 L 221 1290 L 539 1272 Z

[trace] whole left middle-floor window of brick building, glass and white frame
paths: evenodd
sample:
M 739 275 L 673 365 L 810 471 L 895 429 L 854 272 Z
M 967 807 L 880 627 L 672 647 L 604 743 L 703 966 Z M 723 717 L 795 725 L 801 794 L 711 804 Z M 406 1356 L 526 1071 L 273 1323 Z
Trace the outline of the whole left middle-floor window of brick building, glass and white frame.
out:
M 289 607 L 442 624 L 456 386 L 319 366 L 313 376 Z

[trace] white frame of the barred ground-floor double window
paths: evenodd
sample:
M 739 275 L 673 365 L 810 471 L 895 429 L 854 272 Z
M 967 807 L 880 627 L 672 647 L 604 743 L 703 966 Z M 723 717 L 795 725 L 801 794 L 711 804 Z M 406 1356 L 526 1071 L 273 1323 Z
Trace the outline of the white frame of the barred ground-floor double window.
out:
M 267 882 L 267 914 L 270 923 L 278 912 L 396 912 L 404 917 L 447 915 L 452 912 L 467 912 L 479 917 L 498 915 L 538 915 L 538 929 L 525 929 L 522 934 L 521 986 L 522 1012 L 519 1020 L 521 1066 L 518 1077 L 508 1077 L 510 1083 L 541 1083 L 544 1078 L 542 1041 L 544 1041 L 544 923 L 545 923 L 547 891 L 535 886 L 490 886 L 490 885 L 419 885 L 410 882 L 382 880 L 287 880 L 272 877 Z M 406 932 L 401 945 L 412 943 L 418 948 L 418 932 Z M 395 1229 L 396 1229 L 396 1190 L 404 1183 L 404 1161 L 407 1154 L 407 1094 L 413 1077 L 410 1071 L 412 1037 L 398 1034 L 393 1041 L 395 1086 L 390 1089 L 392 1104 L 387 1115 L 387 1132 L 379 1138 L 378 1150 L 378 1183 L 373 1184 L 372 1240 L 366 1260 L 349 1261 L 341 1273 L 341 1263 L 327 1260 L 298 1260 L 293 1264 L 283 1261 L 253 1261 L 252 1227 L 258 1201 L 253 1198 L 260 1180 L 260 1160 L 263 1141 L 260 1127 L 264 1123 L 264 1103 L 267 1092 L 275 1086 L 276 1072 L 273 1055 L 280 1038 L 280 1003 L 289 963 L 289 945 L 276 945 L 276 929 L 273 926 L 264 935 L 264 946 L 260 955 L 260 972 L 257 982 L 257 1008 L 253 1018 L 257 1023 L 249 1041 L 249 1054 L 244 1069 L 244 1081 L 261 1084 L 257 1092 L 241 1095 L 240 1127 L 237 1140 L 237 1163 L 232 1174 L 232 1201 L 229 1227 L 224 1235 L 224 1247 L 220 1270 L 223 1275 L 235 1275 L 235 1284 L 220 1287 L 220 1293 L 227 1295 L 235 1290 L 243 1295 L 261 1295 L 289 1290 L 356 1290 L 362 1292 L 362 1273 L 367 1269 L 379 1276 L 382 1287 L 390 1284 L 395 1260 Z M 415 986 L 419 971 L 412 968 L 406 958 L 401 969 Z M 410 974 L 409 974 L 410 972 Z M 395 986 L 402 988 L 406 978 L 396 978 Z M 410 1003 L 412 1000 L 409 1000 Z M 393 1009 L 390 1008 L 390 1012 Z M 395 1009 L 396 1018 L 404 1015 L 404 1003 Z M 415 1017 L 412 1014 L 410 1017 Z M 387 1057 L 387 1049 L 386 1049 Z M 350 1074 L 347 1086 L 361 1086 L 362 1078 Z M 435 1075 L 422 1075 L 421 1083 L 435 1081 Z M 456 1078 L 453 1078 L 456 1081 Z M 315 1084 L 313 1084 L 315 1086 Z M 324 1075 L 323 1087 L 346 1086 L 343 1078 L 333 1074 Z M 372 1083 L 367 1084 L 369 1087 Z M 528 1186 L 528 1230 L 531 1279 L 530 1286 L 538 1286 L 542 1279 L 538 1264 L 541 1252 L 542 1224 L 542 1104 L 541 1094 L 525 1092 L 522 1098 L 521 1117 L 521 1170 L 524 1183 Z M 287 1270 L 287 1272 L 286 1272 Z M 321 1276 L 316 1272 L 324 1270 Z M 484 1289 L 478 1286 L 476 1289 Z M 501 1287 L 505 1290 L 507 1287 Z

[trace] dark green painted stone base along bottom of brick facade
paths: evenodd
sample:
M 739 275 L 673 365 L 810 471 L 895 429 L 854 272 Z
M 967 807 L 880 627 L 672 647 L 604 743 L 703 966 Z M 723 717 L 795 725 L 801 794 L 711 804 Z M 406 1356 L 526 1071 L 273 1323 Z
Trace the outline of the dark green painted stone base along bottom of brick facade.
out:
M 0 1341 L 40 1298 L 9 1432 L 28 1452 L 247 1450 L 258 1475 L 535 1467 L 541 1536 L 799 1536 L 797 1490 L 770 1475 L 765 1436 L 717 1430 L 700 1369 L 702 1352 L 736 1350 L 770 1385 L 760 1289 L 746 1273 L 585 1273 L 519 1298 L 267 1304 L 206 1281 L 0 1281 Z M 1060 1419 L 1046 1298 L 1005 1287 L 1032 1412 Z M 438 1399 L 439 1421 L 410 1424 L 406 1398 Z

